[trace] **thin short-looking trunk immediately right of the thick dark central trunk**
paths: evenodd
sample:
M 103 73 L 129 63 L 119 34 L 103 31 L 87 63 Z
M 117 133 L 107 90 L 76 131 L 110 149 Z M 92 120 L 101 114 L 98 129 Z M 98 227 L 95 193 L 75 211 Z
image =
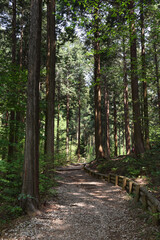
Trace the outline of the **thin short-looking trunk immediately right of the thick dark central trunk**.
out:
M 105 144 L 105 157 L 110 158 L 110 136 L 109 136 L 109 96 L 106 85 L 104 87 L 104 101 L 105 101 L 105 130 L 106 130 L 106 144 Z

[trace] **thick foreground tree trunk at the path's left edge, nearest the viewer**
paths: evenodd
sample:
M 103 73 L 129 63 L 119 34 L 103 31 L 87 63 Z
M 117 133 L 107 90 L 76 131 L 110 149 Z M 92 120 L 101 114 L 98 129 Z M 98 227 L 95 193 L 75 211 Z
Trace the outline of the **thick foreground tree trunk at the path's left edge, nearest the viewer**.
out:
M 28 54 L 28 87 L 22 207 L 35 211 L 39 207 L 39 78 L 41 43 L 41 1 L 31 1 Z

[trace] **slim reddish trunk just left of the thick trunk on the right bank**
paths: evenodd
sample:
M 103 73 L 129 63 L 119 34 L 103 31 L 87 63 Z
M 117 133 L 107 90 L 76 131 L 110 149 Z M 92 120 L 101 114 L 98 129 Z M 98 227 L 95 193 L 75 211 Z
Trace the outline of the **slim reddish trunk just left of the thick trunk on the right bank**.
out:
M 129 128 L 129 108 L 128 108 L 128 80 L 127 80 L 127 63 L 125 40 L 123 37 L 123 81 L 124 81 L 124 119 L 125 119 L 125 140 L 126 154 L 130 154 L 130 128 Z

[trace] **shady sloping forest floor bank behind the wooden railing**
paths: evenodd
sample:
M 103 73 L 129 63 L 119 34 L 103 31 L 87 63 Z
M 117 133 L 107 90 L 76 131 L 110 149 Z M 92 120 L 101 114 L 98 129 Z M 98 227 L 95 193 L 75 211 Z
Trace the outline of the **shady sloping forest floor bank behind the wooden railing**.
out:
M 110 160 L 92 161 L 92 170 L 129 177 L 144 185 L 160 201 L 160 147 L 149 150 L 143 157 L 119 156 Z

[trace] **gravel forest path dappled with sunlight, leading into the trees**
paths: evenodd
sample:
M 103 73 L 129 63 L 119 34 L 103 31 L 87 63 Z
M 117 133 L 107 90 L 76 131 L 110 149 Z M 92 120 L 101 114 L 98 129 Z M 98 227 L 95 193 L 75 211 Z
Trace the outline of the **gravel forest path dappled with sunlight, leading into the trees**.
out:
M 57 197 L 41 215 L 21 221 L 0 239 L 159 239 L 157 227 L 147 223 L 141 209 L 131 207 L 126 192 L 78 168 L 59 169 Z

